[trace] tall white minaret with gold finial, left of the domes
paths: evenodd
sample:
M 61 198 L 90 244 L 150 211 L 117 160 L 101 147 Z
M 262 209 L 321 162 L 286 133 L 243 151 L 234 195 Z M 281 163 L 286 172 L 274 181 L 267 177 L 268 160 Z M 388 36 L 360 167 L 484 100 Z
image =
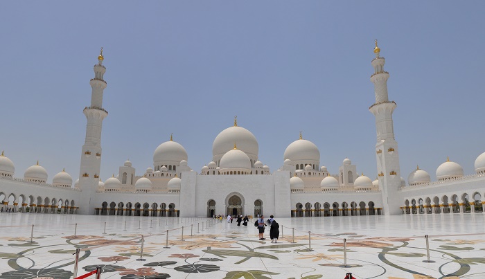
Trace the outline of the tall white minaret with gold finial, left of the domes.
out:
M 98 188 L 99 172 L 101 168 L 101 128 L 103 119 L 108 112 L 103 109 L 103 91 L 106 82 L 103 75 L 106 72 L 103 66 L 103 48 L 98 56 L 98 64 L 94 65 L 94 78 L 91 79 L 91 106 L 82 111 L 87 118 L 85 144 L 82 145 L 81 166 L 79 171 L 79 188 L 82 190 L 79 205 L 80 214 L 94 214 L 95 204 L 91 201 Z

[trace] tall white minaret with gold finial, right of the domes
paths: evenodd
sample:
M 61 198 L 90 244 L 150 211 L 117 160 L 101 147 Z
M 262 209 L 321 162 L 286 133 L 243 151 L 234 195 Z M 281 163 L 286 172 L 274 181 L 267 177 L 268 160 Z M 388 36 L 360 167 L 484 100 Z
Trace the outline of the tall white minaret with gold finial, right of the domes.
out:
M 376 58 L 372 60 L 374 73 L 371 82 L 374 84 L 376 103 L 369 107 L 369 111 L 376 116 L 377 129 L 377 171 L 379 187 L 382 192 L 382 206 L 385 215 L 400 214 L 401 201 L 398 197 L 400 187 L 400 168 L 398 143 L 394 139 L 394 125 L 392 113 L 396 109 L 396 102 L 389 101 L 387 96 L 387 79 L 389 73 L 384 71 L 385 59 L 380 57 L 380 48 L 374 48 Z

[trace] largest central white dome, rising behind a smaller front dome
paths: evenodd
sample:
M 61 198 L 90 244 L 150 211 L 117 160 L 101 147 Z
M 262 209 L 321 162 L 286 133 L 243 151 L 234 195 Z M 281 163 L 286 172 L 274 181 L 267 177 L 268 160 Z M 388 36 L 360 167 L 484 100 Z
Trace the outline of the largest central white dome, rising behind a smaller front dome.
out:
M 239 126 L 229 127 L 220 132 L 212 144 L 212 155 L 222 156 L 233 149 L 234 143 L 238 149 L 245 152 L 248 156 L 258 157 L 258 141 L 252 132 Z

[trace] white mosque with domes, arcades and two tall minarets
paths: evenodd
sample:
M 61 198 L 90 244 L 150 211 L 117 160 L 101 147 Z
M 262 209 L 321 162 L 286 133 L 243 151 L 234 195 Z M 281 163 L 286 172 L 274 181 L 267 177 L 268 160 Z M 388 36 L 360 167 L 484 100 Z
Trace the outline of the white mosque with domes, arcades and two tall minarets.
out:
M 405 179 L 399 167 L 398 143 L 394 138 L 392 114 L 396 102 L 389 101 L 385 59 L 374 48 L 376 102 L 369 111 L 376 116 L 376 161 L 378 179 L 358 174 L 356 165 L 344 159 L 337 173 L 320 165 L 320 152 L 311 141 L 290 143 L 283 165 L 271 172 L 258 161 L 258 141 L 247 129 L 231 127 L 215 137 L 213 157 L 196 172 L 188 166 L 185 148 L 170 141 L 153 154 L 153 168 L 136 174 L 130 161 L 119 174 L 100 181 L 103 91 L 103 49 L 94 66 L 91 105 L 82 145 L 78 179 L 67 172 L 48 183 L 47 172 L 37 162 L 15 177 L 14 163 L 0 156 L 1 212 L 211 217 L 213 215 L 273 214 L 279 217 L 336 217 L 351 215 L 485 213 L 485 153 L 475 161 L 475 173 L 465 175 L 449 159 L 436 169 L 437 181 L 416 168 Z

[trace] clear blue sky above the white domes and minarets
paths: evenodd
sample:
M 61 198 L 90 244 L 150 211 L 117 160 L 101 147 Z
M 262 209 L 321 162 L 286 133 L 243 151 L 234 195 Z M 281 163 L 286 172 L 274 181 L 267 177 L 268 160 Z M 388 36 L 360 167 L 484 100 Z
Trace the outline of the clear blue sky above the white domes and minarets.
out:
M 337 173 L 345 157 L 376 177 L 374 39 L 398 104 L 402 176 L 434 179 L 450 156 L 466 174 L 485 152 L 484 1 L 2 1 L 0 150 L 23 177 L 79 174 L 100 46 L 107 68 L 101 178 L 136 174 L 174 140 L 200 168 L 233 123 L 276 171 L 303 138 Z

